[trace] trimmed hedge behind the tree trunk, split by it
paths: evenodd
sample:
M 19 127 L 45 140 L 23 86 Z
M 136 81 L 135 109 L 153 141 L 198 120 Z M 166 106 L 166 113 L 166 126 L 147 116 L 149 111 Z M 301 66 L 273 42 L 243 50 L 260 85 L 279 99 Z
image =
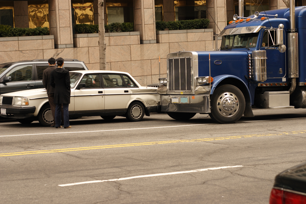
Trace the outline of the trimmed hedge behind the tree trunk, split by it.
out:
M 132 32 L 134 30 L 133 23 L 111 23 L 109 25 L 104 25 L 105 32 Z M 76 24 L 75 27 L 76 34 L 83 33 L 99 33 L 99 25 L 89 25 L 89 24 Z

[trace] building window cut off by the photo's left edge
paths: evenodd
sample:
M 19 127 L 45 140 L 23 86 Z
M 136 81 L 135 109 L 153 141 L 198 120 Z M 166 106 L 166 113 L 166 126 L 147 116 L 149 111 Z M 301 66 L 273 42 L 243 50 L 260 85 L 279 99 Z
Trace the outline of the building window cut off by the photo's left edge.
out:
M 0 25 L 10 25 L 15 27 L 14 23 L 14 2 L 4 1 L 0 5 Z

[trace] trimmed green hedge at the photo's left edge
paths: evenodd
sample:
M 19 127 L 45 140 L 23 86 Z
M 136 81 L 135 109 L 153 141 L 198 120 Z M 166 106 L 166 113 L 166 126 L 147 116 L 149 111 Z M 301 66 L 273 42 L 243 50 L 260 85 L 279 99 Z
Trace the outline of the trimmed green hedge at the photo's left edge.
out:
M 9 25 L 0 25 L 0 37 L 18 37 L 33 35 L 49 35 L 49 29 L 44 28 L 11 28 Z

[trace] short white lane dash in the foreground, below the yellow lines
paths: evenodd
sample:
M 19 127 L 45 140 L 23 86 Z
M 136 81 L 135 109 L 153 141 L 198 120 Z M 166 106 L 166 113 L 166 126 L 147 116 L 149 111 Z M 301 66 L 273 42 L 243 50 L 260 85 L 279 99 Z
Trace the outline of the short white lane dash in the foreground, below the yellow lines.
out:
M 178 171 L 178 172 L 170 172 L 170 173 L 156 173 L 156 174 L 149 174 L 149 175 L 143 175 L 143 176 L 132 176 L 132 177 L 126 177 L 126 178 L 120 178 L 120 179 L 94 180 L 94 181 L 84 181 L 84 182 L 78 182 L 78 183 L 72 183 L 72 184 L 60 184 L 58 186 L 74 186 L 74 185 L 80 185 L 80 184 L 91 184 L 91 183 L 99 183 L 99 182 L 107 182 L 107 181 L 122 181 L 122 180 L 152 177 L 152 176 L 165 176 L 165 175 L 173 175 L 173 174 L 180 174 L 180 173 L 192 173 L 192 172 L 217 170 L 217 169 L 227 169 L 227 168 L 235 168 L 235 167 L 243 167 L 243 166 L 241 166 L 241 165 L 221 166 L 221 167 L 214 167 L 214 168 L 207 168 L 207 169 L 196 169 L 196 170 L 190 170 L 190 171 Z

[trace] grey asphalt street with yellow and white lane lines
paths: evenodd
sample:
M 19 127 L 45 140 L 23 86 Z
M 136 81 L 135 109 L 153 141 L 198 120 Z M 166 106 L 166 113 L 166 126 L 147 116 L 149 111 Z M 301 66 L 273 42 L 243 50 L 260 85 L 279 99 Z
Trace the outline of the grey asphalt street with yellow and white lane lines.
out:
M 0 203 L 267 204 L 274 177 L 306 160 L 306 109 L 254 114 L 84 117 L 71 129 L 0 121 Z

